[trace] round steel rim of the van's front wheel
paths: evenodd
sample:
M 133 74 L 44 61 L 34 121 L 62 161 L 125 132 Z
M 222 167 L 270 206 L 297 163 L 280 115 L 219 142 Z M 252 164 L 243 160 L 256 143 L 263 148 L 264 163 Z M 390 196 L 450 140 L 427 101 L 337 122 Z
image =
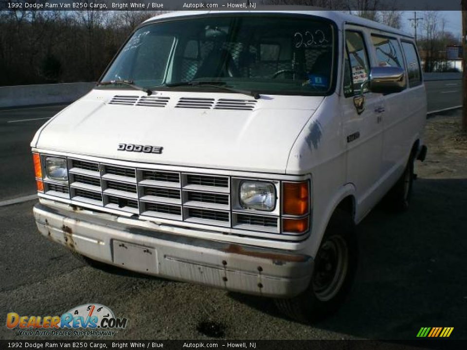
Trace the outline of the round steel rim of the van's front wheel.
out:
M 319 300 L 327 301 L 337 295 L 347 275 L 348 260 L 348 246 L 341 236 L 329 237 L 320 247 L 312 281 Z

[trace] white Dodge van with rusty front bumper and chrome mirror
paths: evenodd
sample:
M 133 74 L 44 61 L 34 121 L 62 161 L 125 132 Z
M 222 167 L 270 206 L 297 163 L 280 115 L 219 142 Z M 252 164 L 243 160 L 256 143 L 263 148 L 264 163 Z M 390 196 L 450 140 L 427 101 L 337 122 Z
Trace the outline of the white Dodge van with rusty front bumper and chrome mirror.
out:
M 413 38 L 339 12 L 145 21 L 96 87 L 31 143 L 39 231 L 89 261 L 341 302 L 354 226 L 410 199 L 426 94 Z

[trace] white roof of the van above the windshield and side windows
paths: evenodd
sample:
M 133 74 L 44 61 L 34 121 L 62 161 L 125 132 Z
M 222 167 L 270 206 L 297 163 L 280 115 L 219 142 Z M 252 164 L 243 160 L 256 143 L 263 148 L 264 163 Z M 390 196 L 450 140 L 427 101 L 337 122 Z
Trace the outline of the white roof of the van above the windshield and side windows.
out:
M 311 16 L 319 16 L 323 18 L 329 18 L 337 23 L 340 27 L 342 23 L 352 23 L 361 25 L 364 27 L 375 28 L 384 32 L 389 32 L 397 35 L 403 35 L 413 38 L 413 35 L 403 32 L 397 28 L 393 28 L 387 26 L 385 24 L 381 24 L 366 18 L 361 18 L 358 16 L 350 15 L 347 13 L 343 13 L 340 11 L 175 11 L 175 12 L 168 12 L 159 16 L 155 16 L 152 18 L 147 19 L 144 23 L 157 21 L 160 19 L 165 18 L 176 18 L 176 17 L 185 17 L 185 16 L 202 16 L 207 14 L 244 14 L 244 13 L 254 13 L 254 14 L 300 14 L 300 15 L 311 15 Z

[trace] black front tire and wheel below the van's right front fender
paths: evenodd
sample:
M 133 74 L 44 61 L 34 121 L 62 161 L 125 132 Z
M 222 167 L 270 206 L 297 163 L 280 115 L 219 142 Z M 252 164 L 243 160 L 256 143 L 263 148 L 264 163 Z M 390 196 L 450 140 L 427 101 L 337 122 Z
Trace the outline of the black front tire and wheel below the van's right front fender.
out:
M 338 250 L 341 253 L 337 253 Z M 304 323 L 317 321 L 334 313 L 350 290 L 357 267 L 357 256 L 352 216 L 338 208 L 324 233 L 308 288 L 296 297 L 275 299 L 279 311 Z M 333 267 L 335 271 L 332 271 Z

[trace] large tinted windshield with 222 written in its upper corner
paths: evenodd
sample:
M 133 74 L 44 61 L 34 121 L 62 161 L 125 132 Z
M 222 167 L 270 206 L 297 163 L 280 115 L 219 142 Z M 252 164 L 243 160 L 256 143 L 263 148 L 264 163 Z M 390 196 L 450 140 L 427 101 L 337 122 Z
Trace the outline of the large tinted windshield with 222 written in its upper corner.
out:
M 132 35 L 102 82 L 125 80 L 160 90 L 216 84 L 259 93 L 324 95 L 333 86 L 334 42 L 331 22 L 309 16 L 153 23 Z

